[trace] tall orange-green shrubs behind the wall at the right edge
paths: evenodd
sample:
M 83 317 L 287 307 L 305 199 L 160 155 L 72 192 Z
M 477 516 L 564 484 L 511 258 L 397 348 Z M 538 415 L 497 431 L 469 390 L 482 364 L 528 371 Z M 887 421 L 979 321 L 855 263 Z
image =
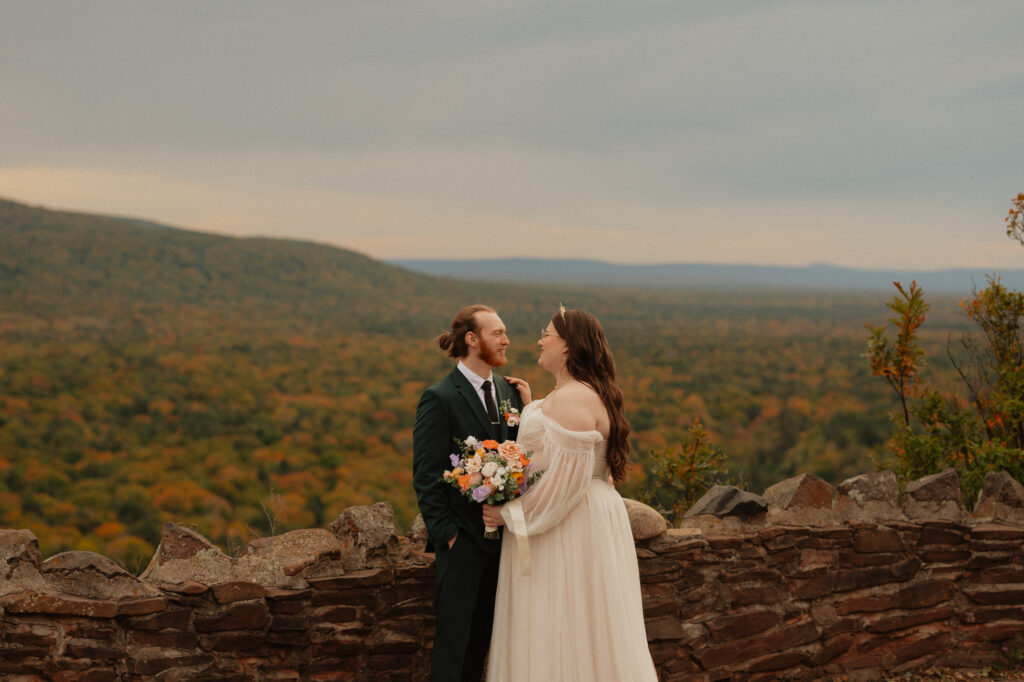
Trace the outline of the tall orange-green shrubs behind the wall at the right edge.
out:
M 1024 194 L 1014 200 L 1007 233 L 1024 244 Z M 898 329 L 894 344 L 885 328 L 873 328 L 868 339 L 871 372 L 897 392 L 903 419 L 892 437 L 894 469 L 902 480 L 954 467 L 968 499 L 981 488 L 989 471 L 1007 471 L 1024 479 L 1024 294 L 1005 287 L 997 276 L 961 302 L 980 334 L 965 335 L 958 352 L 949 357 L 959 374 L 967 399 L 919 386 L 925 354 L 916 332 L 928 304 L 916 283 L 888 305 Z

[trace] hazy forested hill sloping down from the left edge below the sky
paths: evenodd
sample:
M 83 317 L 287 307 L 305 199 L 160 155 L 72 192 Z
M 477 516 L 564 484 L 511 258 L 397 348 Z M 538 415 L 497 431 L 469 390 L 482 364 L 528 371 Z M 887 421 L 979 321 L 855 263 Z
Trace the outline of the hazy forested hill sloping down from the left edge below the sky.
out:
M 230 304 L 360 316 L 451 283 L 308 242 L 239 239 L 0 200 L 0 296 L 19 307 Z

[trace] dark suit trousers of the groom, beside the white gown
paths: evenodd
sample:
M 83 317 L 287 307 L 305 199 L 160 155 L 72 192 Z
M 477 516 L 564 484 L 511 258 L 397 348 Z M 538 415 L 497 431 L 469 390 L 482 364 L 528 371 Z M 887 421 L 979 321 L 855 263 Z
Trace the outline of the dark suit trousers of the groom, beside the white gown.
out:
M 496 549 L 500 547 L 498 540 Z M 449 549 L 436 548 L 436 633 L 431 682 L 480 682 L 490 647 L 500 553 L 484 552 L 460 532 Z

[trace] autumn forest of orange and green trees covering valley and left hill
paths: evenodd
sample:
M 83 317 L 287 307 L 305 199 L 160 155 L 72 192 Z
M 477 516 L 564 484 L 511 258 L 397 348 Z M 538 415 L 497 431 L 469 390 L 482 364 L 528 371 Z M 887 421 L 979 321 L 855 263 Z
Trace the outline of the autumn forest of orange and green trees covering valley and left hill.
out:
M 957 298 L 929 300 L 927 371 L 953 390 L 947 344 L 971 326 Z M 757 493 L 889 456 L 896 400 L 864 357 L 878 293 L 487 285 L 0 201 L 0 524 L 130 570 L 166 521 L 237 551 L 387 500 L 403 528 L 416 402 L 451 367 L 432 339 L 474 302 L 537 395 L 558 303 L 601 318 L 633 427 L 624 495 L 695 418 Z

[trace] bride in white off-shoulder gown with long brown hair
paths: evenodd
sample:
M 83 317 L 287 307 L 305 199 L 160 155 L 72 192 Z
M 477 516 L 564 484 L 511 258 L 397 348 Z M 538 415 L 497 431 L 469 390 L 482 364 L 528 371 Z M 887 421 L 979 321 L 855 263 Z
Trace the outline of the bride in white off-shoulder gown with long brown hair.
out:
M 542 478 L 483 506 L 505 525 L 487 682 L 656 680 L 647 648 L 633 534 L 612 479 L 626 476 L 630 425 L 604 331 L 565 310 L 541 333 L 546 398 L 525 382 L 518 441 Z

